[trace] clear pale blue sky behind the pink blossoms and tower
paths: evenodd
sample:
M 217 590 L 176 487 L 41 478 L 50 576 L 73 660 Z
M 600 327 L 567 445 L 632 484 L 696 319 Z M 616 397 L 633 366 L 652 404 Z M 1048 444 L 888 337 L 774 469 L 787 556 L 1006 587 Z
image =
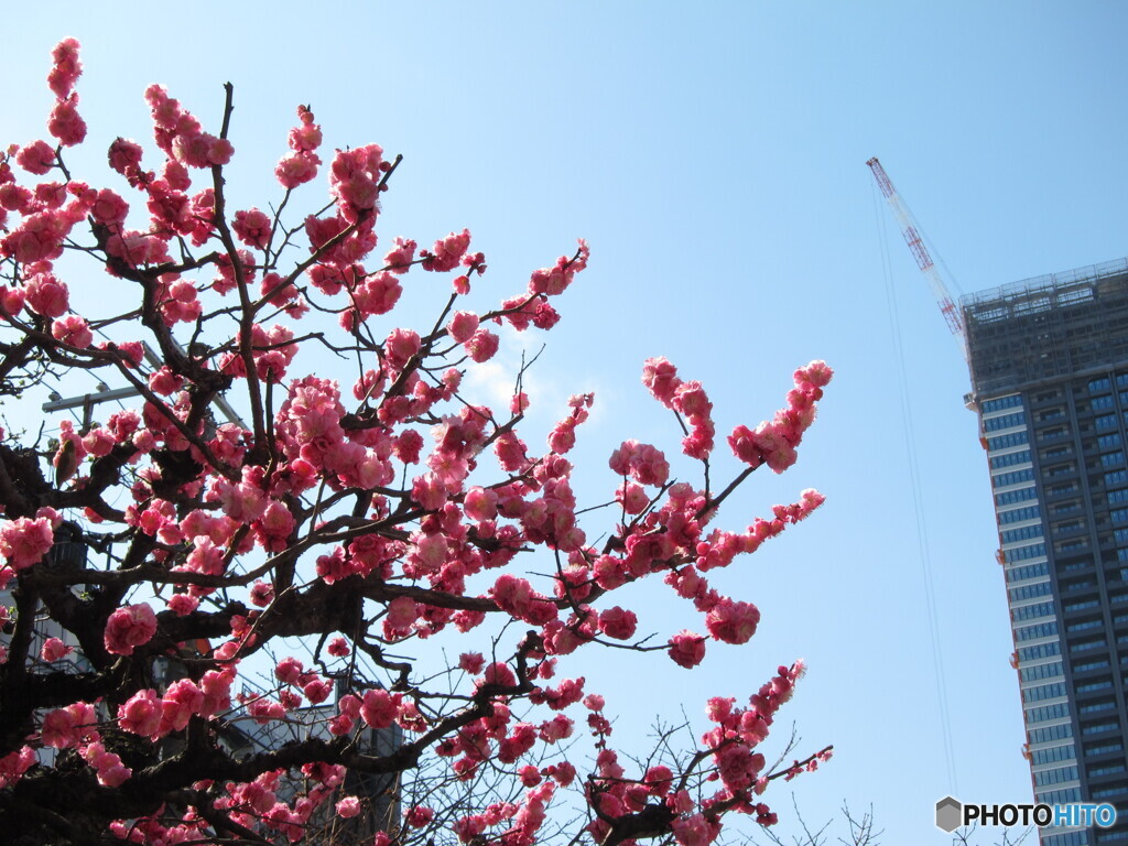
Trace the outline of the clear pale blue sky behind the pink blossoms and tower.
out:
M 102 167 L 118 134 L 148 143 L 149 82 L 214 126 L 230 80 L 231 184 L 245 205 L 277 199 L 271 169 L 296 105 L 309 103 L 328 149 L 376 141 L 404 153 L 386 241 L 470 229 L 490 261 L 476 289 L 483 308 L 587 238 L 591 267 L 543 338 L 543 416 L 528 439 L 547 432 L 569 394 L 596 391 L 578 453 L 591 464 L 580 477 L 590 502 L 614 484 L 603 468 L 623 439 L 676 443 L 673 422 L 638 382 L 647 356 L 705 382 L 720 431 L 770 416 L 792 370 L 826 359 L 837 377 L 799 465 L 756 474 L 722 514 L 742 527 L 804 487 L 828 496 L 809 522 L 717 576 L 760 606 L 757 637 L 713 649 L 693 676 L 664 659 L 609 659 L 590 684 L 601 681 L 626 746 L 645 741 L 654 716 L 697 715 L 704 696 L 750 693 L 777 663 L 804 656 L 810 671 L 779 733 L 794 721 L 801 751 L 837 749 L 794 783 L 809 819 L 843 800 L 872 803 L 884 843 L 940 844 L 932 803 L 945 793 L 1029 801 L 986 460 L 962 405 L 967 372 L 865 161 L 881 158 L 964 291 L 1122 257 L 1128 7 L 478 7 L 204 1 L 174 15 L 127 1 L 19 5 L 5 12 L 3 142 L 43 134 L 49 51 L 73 35 L 91 130 L 76 165 Z M 426 293 L 409 299 L 420 323 L 433 319 Z M 517 343 L 505 350 L 511 364 Z M 664 589 L 638 602 L 650 611 L 643 626 L 699 625 Z M 790 797 L 775 793 L 786 829 Z

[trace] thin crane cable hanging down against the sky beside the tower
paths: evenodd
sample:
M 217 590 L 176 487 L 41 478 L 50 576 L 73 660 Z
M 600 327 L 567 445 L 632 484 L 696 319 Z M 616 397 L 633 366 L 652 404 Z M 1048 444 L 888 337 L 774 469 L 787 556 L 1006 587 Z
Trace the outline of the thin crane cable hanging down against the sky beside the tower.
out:
M 913 428 L 913 408 L 908 393 L 908 376 L 905 365 L 905 346 L 901 342 L 900 318 L 897 309 L 897 289 L 893 285 L 892 267 L 889 262 L 889 238 L 885 230 L 885 215 L 881 213 L 878 190 L 870 180 L 873 194 L 874 215 L 878 221 L 879 241 L 881 245 L 881 265 L 885 283 L 885 305 L 889 312 L 889 327 L 897 349 L 898 378 L 901 396 L 901 431 L 905 433 L 905 451 L 908 458 L 909 481 L 913 488 L 913 506 L 916 512 L 917 549 L 920 559 L 920 573 L 924 583 L 925 616 L 928 619 L 928 637 L 932 641 L 932 667 L 936 681 L 936 702 L 940 705 L 941 735 L 944 746 L 944 759 L 948 768 L 948 782 L 952 794 L 959 792 L 955 778 L 955 755 L 952 746 L 952 722 L 948 708 L 948 682 L 944 676 L 943 651 L 940 646 L 940 619 L 936 614 L 936 592 L 932 578 L 932 559 L 928 554 L 928 523 L 920 497 L 920 470 L 917 464 L 916 433 Z

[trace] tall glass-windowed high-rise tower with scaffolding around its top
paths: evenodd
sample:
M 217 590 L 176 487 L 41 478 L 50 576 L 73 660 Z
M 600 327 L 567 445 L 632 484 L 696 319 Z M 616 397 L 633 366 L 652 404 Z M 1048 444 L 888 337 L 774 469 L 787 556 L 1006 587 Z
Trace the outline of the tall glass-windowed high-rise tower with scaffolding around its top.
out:
M 1128 844 L 1128 261 L 961 300 L 1034 796 L 1110 803 Z

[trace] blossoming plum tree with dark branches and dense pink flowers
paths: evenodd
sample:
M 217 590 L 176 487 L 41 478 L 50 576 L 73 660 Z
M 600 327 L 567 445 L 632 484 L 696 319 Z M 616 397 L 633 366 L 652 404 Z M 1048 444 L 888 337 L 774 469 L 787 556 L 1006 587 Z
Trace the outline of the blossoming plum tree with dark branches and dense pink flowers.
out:
M 616 647 L 682 672 L 710 642 L 749 641 L 759 611 L 708 572 L 822 497 L 742 530 L 711 523 L 754 470 L 794 462 L 829 368 L 799 369 L 774 418 L 732 430 L 740 469 L 715 486 L 704 387 L 649 360 L 643 382 L 703 484 L 628 440 L 610 455 L 610 502 L 581 520 L 567 455 L 592 397 L 570 400 L 544 451 L 519 431 L 523 370 L 502 409 L 462 378 L 497 352 L 497 325 L 557 323 L 584 243 L 495 308 L 468 308 L 486 270 L 470 233 L 395 238 L 378 257 L 399 158 L 326 155 L 306 106 L 274 167 L 281 199 L 232 209 L 230 86 L 215 132 L 150 87 L 156 160 L 118 138 L 117 176 L 96 187 L 64 156 L 87 135 L 78 44 L 53 59 L 52 140 L 0 156 L 0 390 L 81 370 L 132 398 L 104 422 L 90 407 L 52 421 L 50 447 L 0 441 L 8 840 L 328 841 L 362 830 L 346 823 L 378 800 L 391 812 L 370 821 L 377 844 L 703 846 L 729 814 L 773 823 L 769 783 L 829 757 L 768 765 L 759 751 L 801 663 L 743 703 L 703 702 L 711 728 L 685 747 L 671 732 L 627 757 L 582 656 Z M 292 215 L 323 169 L 328 203 Z M 77 262 L 114 292 L 96 314 L 71 306 Z M 449 281 L 438 319 L 378 328 L 408 273 Z M 340 382 L 301 372 L 334 354 Z M 220 422 L 218 405 L 238 413 Z M 622 598 L 643 579 L 688 600 L 704 633 L 646 636 L 662 620 Z M 457 660 L 404 656 L 426 638 Z M 382 779 L 379 795 L 356 778 Z

